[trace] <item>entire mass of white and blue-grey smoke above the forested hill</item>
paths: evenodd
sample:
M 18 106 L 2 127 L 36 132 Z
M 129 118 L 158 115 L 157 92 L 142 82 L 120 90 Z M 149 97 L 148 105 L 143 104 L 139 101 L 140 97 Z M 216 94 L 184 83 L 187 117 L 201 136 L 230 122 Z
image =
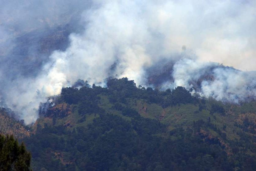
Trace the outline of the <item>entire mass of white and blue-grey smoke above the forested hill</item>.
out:
M 41 101 L 78 79 L 104 86 L 109 76 L 128 77 L 229 102 L 255 97 L 255 73 L 246 72 L 256 63 L 255 2 L 0 5 L 0 94 L 26 124 L 36 120 Z

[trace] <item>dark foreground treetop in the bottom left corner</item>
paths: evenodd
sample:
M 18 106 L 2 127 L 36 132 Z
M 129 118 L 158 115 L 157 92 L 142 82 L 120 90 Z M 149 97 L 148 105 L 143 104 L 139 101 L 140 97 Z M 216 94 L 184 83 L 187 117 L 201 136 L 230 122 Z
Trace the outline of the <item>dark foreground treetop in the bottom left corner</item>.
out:
M 30 170 L 31 154 L 13 136 L 0 135 L 0 170 Z

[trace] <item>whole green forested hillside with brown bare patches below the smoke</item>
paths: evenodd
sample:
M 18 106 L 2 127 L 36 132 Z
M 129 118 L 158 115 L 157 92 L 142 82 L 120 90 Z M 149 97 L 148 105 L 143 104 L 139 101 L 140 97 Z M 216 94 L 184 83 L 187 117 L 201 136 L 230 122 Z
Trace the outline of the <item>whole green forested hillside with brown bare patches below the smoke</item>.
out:
M 49 108 L 47 108 L 49 107 Z M 109 79 L 63 88 L 21 140 L 34 170 L 254 170 L 256 103 Z

